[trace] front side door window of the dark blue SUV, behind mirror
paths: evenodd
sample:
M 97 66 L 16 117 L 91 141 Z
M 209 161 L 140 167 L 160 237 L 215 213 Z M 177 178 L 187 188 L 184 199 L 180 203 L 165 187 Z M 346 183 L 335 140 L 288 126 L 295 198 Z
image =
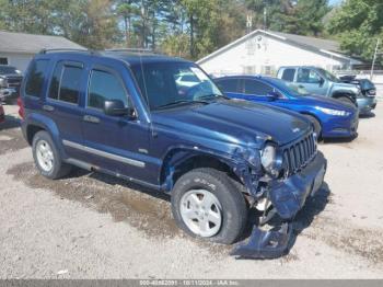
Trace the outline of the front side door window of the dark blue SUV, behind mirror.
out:
M 88 106 L 103 110 L 104 102 L 109 100 L 120 100 L 128 106 L 121 80 L 109 72 L 93 70 L 89 84 Z

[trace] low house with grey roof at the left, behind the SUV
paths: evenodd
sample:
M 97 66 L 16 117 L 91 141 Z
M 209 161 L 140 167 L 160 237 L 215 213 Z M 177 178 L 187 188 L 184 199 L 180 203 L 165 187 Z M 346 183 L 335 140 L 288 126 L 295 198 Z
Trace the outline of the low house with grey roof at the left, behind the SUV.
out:
M 33 35 L 0 31 L 0 65 L 25 71 L 30 60 L 42 49 L 84 47 L 60 36 Z

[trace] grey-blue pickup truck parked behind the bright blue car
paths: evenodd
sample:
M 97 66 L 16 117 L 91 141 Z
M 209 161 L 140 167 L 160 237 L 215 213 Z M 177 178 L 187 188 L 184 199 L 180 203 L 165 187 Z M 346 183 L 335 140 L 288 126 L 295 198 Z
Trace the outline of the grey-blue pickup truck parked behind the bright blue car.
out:
M 333 73 L 317 67 L 281 67 L 278 78 L 303 87 L 311 94 L 325 95 L 353 103 L 359 114 L 369 114 L 376 107 L 376 99 L 364 96 L 359 87 L 341 82 Z

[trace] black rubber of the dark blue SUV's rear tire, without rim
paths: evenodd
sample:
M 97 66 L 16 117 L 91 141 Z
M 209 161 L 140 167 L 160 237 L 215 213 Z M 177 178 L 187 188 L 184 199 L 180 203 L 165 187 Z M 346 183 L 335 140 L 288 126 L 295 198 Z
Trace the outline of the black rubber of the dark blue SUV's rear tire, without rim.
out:
M 53 152 L 53 168 L 49 171 L 46 171 L 38 162 L 37 160 L 37 145 L 39 141 L 45 141 L 47 145 L 49 145 L 51 152 Z M 34 137 L 33 137 L 33 144 L 32 144 L 32 152 L 33 152 L 33 158 L 35 160 L 35 164 L 40 172 L 42 175 L 49 180 L 57 180 L 62 176 L 66 176 L 70 171 L 71 171 L 71 165 L 68 163 L 65 163 L 60 157 L 60 153 L 58 152 L 50 135 L 45 131 L 38 131 Z

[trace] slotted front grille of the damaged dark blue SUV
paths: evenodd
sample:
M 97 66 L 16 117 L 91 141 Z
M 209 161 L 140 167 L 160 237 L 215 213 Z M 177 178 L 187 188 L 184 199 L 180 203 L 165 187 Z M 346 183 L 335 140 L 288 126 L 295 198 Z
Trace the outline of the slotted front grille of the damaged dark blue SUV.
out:
M 314 134 L 283 148 L 285 174 L 291 176 L 302 170 L 316 154 Z

